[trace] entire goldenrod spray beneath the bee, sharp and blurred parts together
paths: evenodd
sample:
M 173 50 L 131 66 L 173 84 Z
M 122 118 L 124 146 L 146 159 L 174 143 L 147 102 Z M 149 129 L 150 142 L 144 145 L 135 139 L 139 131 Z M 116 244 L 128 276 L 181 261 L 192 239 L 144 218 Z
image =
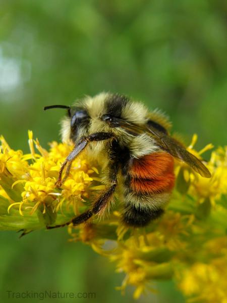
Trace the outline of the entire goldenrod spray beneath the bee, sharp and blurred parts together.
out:
M 78 157 L 61 189 L 55 187 L 61 164 L 72 150 L 52 142 L 43 149 L 29 132 L 30 153 L 12 150 L 0 138 L 0 229 L 23 234 L 64 224 L 89 207 L 94 192 L 104 189 L 99 167 Z M 188 150 L 197 152 L 197 136 Z M 37 152 L 35 151 L 37 150 Z M 69 225 L 70 241 L 89 244 L 125 273 L 122 286 L 135 287 L 134 298 L 155 290 L 155 281 L 172 279 L 191 302 L 227 303 L 227 147 L 212 151 L 206 163 L 212 177 L 202 178 L 176 163 L 176 188 L 164 215 L 146 228 L 127 229 L 116 203 L 104 218 Z M 54 232 L 54 231 L 51 231 Z

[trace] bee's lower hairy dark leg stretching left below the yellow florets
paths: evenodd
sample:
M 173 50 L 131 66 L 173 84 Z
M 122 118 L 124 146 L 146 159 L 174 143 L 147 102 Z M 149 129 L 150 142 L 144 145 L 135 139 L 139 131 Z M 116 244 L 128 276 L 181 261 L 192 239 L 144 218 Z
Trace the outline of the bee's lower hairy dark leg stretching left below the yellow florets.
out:
M 110 176 L 111 181 L 110 181 L 110 186 L 106 191 L 104 191 L 101 196 L 97 199 L 97 201 L 91 206 L 90 209 L 86 210 L 85 212 L 79 214 L 77 217 L 73 218 L 71 221 L 62 224 L 62 225 L 55 225 L 55 226 L 46 226 L 47 229 L 53 229 L 53 228 L 58 228 L 58 227 L 63 227 L 66 225 L 69 225 L 73 223 L 73 225 L 78 225 L 81 223 L 86 222 L 88 219 L 92 217 L 93 214 L 97 214 L 102 212 L 105 207 L 108 205 L 110 202 L 116 187 L 118 185 L 117 182 L 117 174 L 118 174 L 118 164 L 114 163 L 112 167 L 110 168 Z

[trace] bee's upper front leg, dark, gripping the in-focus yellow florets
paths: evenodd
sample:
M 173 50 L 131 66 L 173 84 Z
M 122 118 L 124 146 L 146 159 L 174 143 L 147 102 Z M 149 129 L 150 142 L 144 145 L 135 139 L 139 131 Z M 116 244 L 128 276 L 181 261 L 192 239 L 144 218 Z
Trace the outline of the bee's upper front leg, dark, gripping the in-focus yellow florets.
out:
M 63 164 L 60 168 L 60 171 L 59 171 L 59 178 L 58 178 L 58 181 L 56 182 L 56 187 L 60 188 L 62 186 L 63 181 L 65 181 L 67 179 L 67 177 L 69 176 L 69 172 L 70 172 L 70 168 L 71 168 L 73 160 L 84 150 L 84 148 L 87 146 L 87 144 L 89 142 L 107 140 L 112 137 L 113 137 L 112 133 L 100 132 L 100 133 L 91 134 L 85 138 L 80 139 L 78 144 L 74 147 L 72 152 L 68 155 L 66 160 L 63 162 Z M 63 170 L 64 170 L 65 166 L 67 165 L 67 163 L 68 163 L 68 167 L 66 170 L 66 176 L 62 180 Z

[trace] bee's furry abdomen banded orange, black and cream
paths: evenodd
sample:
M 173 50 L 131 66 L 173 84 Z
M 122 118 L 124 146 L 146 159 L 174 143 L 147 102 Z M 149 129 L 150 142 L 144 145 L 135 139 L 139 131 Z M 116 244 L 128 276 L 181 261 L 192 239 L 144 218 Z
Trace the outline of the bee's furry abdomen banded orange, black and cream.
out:
M 165 152 L 131 159 L 125 174 L 123 222 L 142 227 L 164 212 L 174 187 L 174 159 Z

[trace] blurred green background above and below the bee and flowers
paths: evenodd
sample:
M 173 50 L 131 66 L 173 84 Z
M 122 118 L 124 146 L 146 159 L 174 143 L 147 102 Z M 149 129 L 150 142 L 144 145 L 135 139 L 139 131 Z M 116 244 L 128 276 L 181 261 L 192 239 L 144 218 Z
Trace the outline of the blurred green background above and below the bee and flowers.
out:
M 0 1 L 0 133 L 28 152 L 32 129 L 48 147 L 65 112 L 43 106 L 110 91 L 162 109 L 187 143 L 198 134 L 198 149 L 226 144 L 226 12 L 220 0 Z M 124 277 L 115 265 L 68 237 L 2 232 L 0 300 L 7 290 L 51 290 L 131 302 L 132 288 L 124 297 L 115 290 Z M 139 302 L 185 301 L 173 283 L 157 288 Z

